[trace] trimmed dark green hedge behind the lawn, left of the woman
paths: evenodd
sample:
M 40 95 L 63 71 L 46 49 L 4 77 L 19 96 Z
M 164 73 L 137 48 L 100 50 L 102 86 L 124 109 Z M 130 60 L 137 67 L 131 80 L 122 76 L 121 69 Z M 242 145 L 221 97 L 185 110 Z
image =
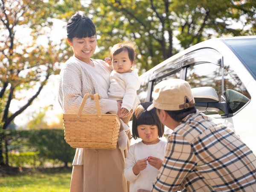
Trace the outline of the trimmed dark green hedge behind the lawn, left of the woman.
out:
M 72 163 L 76 149 L 64 140 L 63 130 L 4 131 L 9 142 L 9 164 L 12 166 L 45 166 L 45 163 Z

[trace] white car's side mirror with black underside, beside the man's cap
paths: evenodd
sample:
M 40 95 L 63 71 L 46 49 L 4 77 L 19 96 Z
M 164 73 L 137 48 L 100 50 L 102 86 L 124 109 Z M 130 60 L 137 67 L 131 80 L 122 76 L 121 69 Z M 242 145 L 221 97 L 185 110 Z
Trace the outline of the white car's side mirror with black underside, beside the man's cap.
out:
M 191 90 L 195 99 L 195 107 L 199 111 L 215 111 L 217 113 L 222 111 L 222 113 L 228 114 L 226 99 L 221 96 L 221 102 L 219 102 L 218 94 L 214 88 L 196 87 Z

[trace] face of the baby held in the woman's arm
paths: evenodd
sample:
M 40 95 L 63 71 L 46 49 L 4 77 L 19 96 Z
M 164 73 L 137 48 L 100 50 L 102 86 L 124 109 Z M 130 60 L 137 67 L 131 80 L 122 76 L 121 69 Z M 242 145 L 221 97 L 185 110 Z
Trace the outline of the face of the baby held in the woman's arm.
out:
M 131 72 L 131 66 L 133 63 L 129 59 L 128 51 L 122 51 L 119 54 L 112 55 L 113 70 L 118 73 Z

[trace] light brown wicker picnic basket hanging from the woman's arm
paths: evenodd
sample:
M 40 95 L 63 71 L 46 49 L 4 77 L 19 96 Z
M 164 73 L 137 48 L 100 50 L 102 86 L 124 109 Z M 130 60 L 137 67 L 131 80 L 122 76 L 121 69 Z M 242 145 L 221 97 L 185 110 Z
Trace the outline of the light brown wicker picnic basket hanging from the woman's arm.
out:
M 97 114 L 81 114 L 87 97 L 95 100 Z M 73 148 L 114 149 L 120 121 L 116 114 L 102 114 L 98 94 L 85 94 L 77 114 L 63 114 L 64 136 Z

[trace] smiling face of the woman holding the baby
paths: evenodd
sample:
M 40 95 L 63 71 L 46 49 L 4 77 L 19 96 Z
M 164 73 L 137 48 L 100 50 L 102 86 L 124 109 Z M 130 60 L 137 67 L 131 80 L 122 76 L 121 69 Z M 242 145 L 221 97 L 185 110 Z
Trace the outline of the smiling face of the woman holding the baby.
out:
M 96 36 L 87 38 L 73 38 L 72 41 L 68 40 L 68 44 L 73 48 L 73 52 L 76 58 L 90 63 L 90 57 L 93 55 L 96 46 Z

